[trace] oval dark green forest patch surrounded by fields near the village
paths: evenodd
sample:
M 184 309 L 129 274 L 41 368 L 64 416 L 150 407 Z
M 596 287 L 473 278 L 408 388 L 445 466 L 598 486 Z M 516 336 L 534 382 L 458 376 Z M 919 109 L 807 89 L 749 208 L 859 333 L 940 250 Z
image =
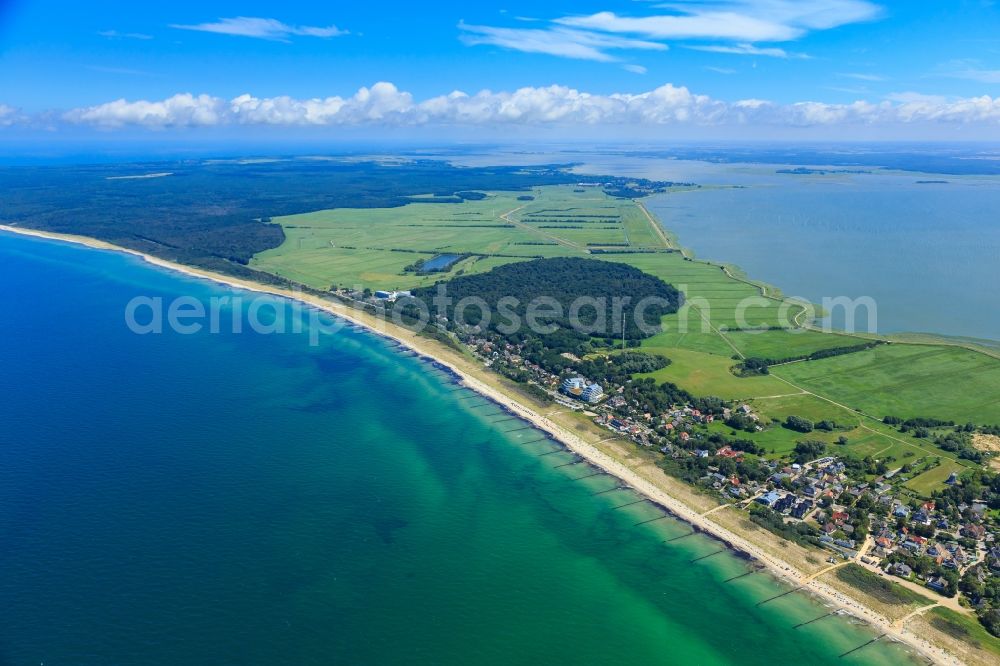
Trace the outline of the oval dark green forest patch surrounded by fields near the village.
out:
M 435 303 L 438 286 L 423 287 L 413 292 L 423 301 L 431 314 L 455 320 L 455 305 L 465 298 L 479 298 L 488 306 L 483 311 L 476 306 L 463 309 L 462 323 L 468 326 L 483 325 L 502 333 L 511 342 L 525 343 L 542 340 L 544 346 L 558 351 L 574 351 L 580 342 L 591 337 L 616 340 L 624 337 L 630 341 L 648 337 L 648 331 L 659 330 L 663 315 L 676 312 L 681 305 L 681 293 L 657 277 L 643 273 L 626 264 L 561 257 L 536 259 L 499 266 L 479 275 L 464 275 L 449 280 L 445 285 L 450 303 Z M 551 307 L 539 307 L 536 321 L 550 330 L 548 333 L 531 330 L 530 326 L 517 326 L 529 320 L 532 302 L 547 299 Z M 659 299 L 641 305 L 643 299 Z M 502 299 L 510 299 L 503 300 Z M 578 299 L 589 300 L 589 304 Z M 613 304 L 621 299 L 621 312 Z M 581 304 L 574 311 L 574 303 Z M 577 315 L 581 326 L 574 326 L 571 316 Z M 644 323 L 640 327 L 637 316 Z M 585 331 L 580 329 L 585 328 Z M 647 328 L 644 332 L 642 328 Z M 563 340 L 565 338 L 565 340 Z

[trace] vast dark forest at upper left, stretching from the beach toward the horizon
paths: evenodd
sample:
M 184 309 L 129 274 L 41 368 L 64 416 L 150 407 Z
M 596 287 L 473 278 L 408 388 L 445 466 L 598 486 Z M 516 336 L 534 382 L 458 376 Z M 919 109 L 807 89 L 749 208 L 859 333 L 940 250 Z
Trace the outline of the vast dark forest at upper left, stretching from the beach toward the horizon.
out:
M 142 177 L 149 174 L 169 174 Z M 458 168 L 434 160 L 361 162 L 180 161 L 127 165 L 0 168 L 0 222 L 80 234 L 255 279 L 250 258 L 284 240 L 270 218 L 327 208 L 402 206 L 482 197 L 477 190 L 527 190 L 608 177 L 557 166 Z

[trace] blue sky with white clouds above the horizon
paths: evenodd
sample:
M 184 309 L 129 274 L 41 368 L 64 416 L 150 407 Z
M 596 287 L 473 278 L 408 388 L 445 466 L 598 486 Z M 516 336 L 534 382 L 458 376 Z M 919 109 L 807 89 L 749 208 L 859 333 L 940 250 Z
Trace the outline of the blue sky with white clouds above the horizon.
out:
M 443 97 L 456 90 L 471 97 Z M 0 0 L 7 133 L 513 124 L 973 138 L 998 136 L 997 97 L 1000 6 L 987 0 Z

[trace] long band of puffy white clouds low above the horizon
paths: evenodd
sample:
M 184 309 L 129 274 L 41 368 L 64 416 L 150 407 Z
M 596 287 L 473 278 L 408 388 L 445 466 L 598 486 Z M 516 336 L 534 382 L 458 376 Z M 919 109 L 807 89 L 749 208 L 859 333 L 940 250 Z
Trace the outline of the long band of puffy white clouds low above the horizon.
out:
M 9 107 L 0 122 L 17 117 Z M 525 87 L 509 92 L 454 91 L 417 101 L 391 83 L 361 88 L 349 97 L 295 99 L 240 95 L 174 95 L 161 101 L 124 99 L 74 109 L 63 120 L 102 128 L 162 129 L 221 125 L 277 126 L 484 126 L 484 125 L 769 125 L 778 127 L 882 125 L 922 122 L 1000 125 L 1000 97 L 944 98 L 915 93 L 883 101 L 777 104 L 745 99 L 726 102 L 662 85 L 643 93 L 592 94 L 566 86 Z

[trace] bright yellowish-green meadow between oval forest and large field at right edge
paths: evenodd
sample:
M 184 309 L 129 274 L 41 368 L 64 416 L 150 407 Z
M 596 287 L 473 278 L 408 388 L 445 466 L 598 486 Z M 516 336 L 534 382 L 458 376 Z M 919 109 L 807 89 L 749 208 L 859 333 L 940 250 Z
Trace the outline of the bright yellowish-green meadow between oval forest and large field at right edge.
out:
M 694 395 L 735 400 L 788 392 L 788 385 L 774 377 L 737 377 L 729 370 L 736 361 L 725 356 L 646 345 L 642 350 L 662 354 L 671 363 L 661 370 L 641 376 L 653 377 L 657 382 L 673 382 Z

